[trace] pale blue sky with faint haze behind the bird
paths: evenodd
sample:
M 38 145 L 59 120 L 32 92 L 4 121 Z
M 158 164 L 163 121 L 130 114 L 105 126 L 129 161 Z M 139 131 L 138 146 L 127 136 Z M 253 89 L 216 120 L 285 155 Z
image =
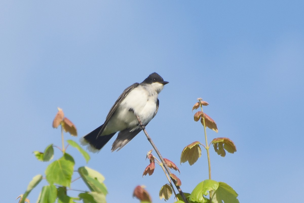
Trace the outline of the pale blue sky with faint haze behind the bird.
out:
M 186 145 L 204 142 L 191 111 L 202 97 L 219 129 L 207 130 L 208 140 L 228 137 L 237 146 L 224 158 L 211 152 L 212 179 L 233 187 L 240 202 L 301 202 L 303 8 L 303 1 L 287 0 L 1 1 L 2 201 L 14 202 L 44 174 L 49 163 L 33 151 L 61 145 L 60 130 L 52 128 L 57 107 L 78 129 L 78 138 L 65 139 L 79 143 L 127 86 L 157 72 L 170 83 L 147 131 L 181 170 L 184 192 L 208 179 L 205 151 L 193 166 L 179 164 Z M 142 178 L 152 149 L 145 135 L 111 153 L 113 141 L 88 163 L 105 176 L 107 201 L 139 202 L 133 189 L 145 185 L 153 202 L 164 202 L 161 168 Z M 76 169 L 85 165 L 78 151 L 67 152 Z M 31 202 L 46 184 L 32 191 Z M 86 187 L 78 180 L 73 188 Z

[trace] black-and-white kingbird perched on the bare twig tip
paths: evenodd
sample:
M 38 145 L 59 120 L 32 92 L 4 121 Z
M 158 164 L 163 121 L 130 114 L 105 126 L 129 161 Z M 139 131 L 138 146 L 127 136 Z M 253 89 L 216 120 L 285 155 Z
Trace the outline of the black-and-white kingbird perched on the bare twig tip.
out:
M 88 145 L 87 149 L 91 152 L 98 152 L 119 131 L 112 144 L 112 152 L 123 148 L 142 130 L 135 115 L 146 126 L 157 113 L 158 93 L 168 83 L 157 73 L 152 73 L 143 82 L 136 82 L 125 89 L 112 106 L 104 124 L 82 137 L 81 144 Z

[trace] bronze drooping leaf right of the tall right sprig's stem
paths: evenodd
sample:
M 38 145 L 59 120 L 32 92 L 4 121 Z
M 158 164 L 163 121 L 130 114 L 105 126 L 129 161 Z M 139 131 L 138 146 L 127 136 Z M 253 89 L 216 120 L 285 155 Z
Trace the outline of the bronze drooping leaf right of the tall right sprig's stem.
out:
M 226 156 L 226 152 L 234 153 L 237 151 L 237 147 L 229 138 L 214 138 L 211 142 L 213 144 L 215 152 L 220 156 Z

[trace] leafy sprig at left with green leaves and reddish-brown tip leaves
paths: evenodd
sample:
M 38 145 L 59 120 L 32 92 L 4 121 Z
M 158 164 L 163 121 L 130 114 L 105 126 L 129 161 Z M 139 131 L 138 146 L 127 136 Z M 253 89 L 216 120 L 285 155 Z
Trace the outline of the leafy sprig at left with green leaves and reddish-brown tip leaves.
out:
M 77 129 L 69 119 L 64 117 L 64 113 L 60 108 L 58 108 L 58 112 L 54 118 L 53 128 L 58 128 L 59 126 L 61 126 L 62 149 L 59 147 L 57 148 L 62 152 L 62 157 L 54 160 L 47 166 L 45 170 L 45 179 L 47 180 L 48 185 L 42 187 L 37 203 L 53 203 L 56 200 L 58 203 L 73 203 L 78 201 L 85 203 L 105 203 L 105 196 L 108 193 L 107 188 L 103 183 L 105 178 L 102 174 L 87 166 L 81 166 L 78 168 L 77 173 L 79 177 L 76 180 L 81 178 L 87 186 L 88 191 L 84 189 L 76 197 L 69 196 L 68 191 L 73 190 L 71 184 L 75 181 L 72 180 L 75 173 L 75 161 L 74 158 L 66 152 L 67 147 L 70 145 L 76 148 L 87 163 L 90 160 L 90 156 L 73 140 L 67 140 L 67 146 L 64 147 L 63 131 L 70 133 L 72 136 L 77 136 Z M 39 161 L 51 161 L 54 158 L 54 145 L 48 145 L 44 152 L 35 151 L 33 153 Z M 30 181 L 25 193 L 19 196 L 19 203 L 23 203 L 25 201 L 29 202 L 27 199 L 29 193 L 41 182 L 42 179 L 43 175 L 41 174 L 33 177 L 33 180 Z

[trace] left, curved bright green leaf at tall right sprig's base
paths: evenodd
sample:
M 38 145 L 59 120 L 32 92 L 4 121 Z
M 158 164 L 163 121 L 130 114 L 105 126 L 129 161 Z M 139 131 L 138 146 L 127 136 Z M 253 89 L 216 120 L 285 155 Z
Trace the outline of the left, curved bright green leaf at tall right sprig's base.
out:
M 197 201 L 205 203 L 207 199 L 204 198 L 203 195 L 207 195 L 208 191 L 215 191 L 219 187 L 219 183 L 215 180 L 204 180 L 200 182 L 190 194 L 189 200 L 190 201 Z

